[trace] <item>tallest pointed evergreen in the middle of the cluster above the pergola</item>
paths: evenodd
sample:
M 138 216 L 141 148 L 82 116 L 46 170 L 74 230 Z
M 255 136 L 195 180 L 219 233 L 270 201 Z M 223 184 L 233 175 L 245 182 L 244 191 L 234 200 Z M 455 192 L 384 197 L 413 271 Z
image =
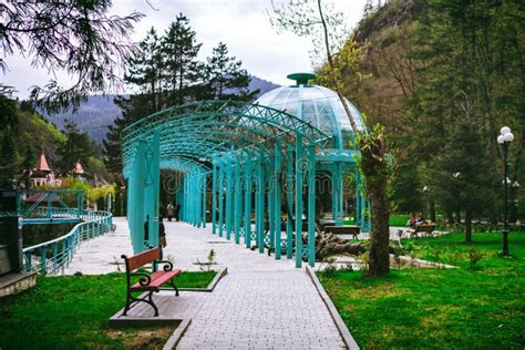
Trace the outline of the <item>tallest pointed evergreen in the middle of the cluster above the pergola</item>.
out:
M 189 27 L 189 20 L 179 13 L 162 40 L 162 53 L 165 58 L 164 89 L 171 100 L 168 105 L 183 104 L 192 96 L 191 85 L 198 81 L 200 73 L 197 62 L 200 45 L 196 41 L 195 31 Z

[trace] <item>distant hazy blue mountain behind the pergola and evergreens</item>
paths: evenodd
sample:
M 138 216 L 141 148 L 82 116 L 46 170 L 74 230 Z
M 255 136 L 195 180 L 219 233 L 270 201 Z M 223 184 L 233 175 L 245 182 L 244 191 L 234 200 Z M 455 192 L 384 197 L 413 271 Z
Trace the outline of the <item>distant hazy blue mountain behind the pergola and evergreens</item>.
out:
M 279 86 L 280 85 L 253 75 L 248 89 L 249 91 L 259 89 L 258 97 Z M 113 102 L 114 97 L 115 95 L 93 95 L 89 96 L 87 101 L 81 103 L 74 113 L 72 110 L 69 110 L 53 115 L 43 114 L 48 121 L 56 125 L 60 130 L 63 130 L 65 119 L 73 121 L 80 131 L 86 132 L 91 138 L 101 143 L 105 137 L 107 126 L 112 125 L 114 120 L 122 115 L 121 109 Z

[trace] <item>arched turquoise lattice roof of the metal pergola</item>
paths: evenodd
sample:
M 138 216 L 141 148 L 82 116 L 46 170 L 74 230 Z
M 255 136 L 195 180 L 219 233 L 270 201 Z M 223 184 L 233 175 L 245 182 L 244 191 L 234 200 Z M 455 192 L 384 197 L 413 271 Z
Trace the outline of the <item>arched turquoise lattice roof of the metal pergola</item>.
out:
M 233 152 L 272 153 L 275 144 L 294 147 L 296 135 L 323 146 L 330 136 L 286 112 L 235 101 L 205 101 L 171 107 L 144 117 L 124 130 L 126 173 L 138 141 L 159 131 L 162 168 L 185 173 L 209 171 L 216 157 Z

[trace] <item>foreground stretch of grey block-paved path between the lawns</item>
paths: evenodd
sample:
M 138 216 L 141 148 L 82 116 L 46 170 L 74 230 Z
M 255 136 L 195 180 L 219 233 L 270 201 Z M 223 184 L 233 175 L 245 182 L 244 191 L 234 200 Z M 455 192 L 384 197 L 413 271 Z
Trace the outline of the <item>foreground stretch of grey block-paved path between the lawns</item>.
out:
M 235 272 L 204 301 L 178 349 L 343 348 L 302 270 Z

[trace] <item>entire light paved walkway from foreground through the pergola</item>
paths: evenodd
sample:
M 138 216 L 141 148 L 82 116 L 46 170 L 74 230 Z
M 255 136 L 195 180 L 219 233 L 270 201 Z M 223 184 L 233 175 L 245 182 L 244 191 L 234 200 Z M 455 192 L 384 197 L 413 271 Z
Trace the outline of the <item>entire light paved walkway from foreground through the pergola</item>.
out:
M 117 269 L 121 254 L 132 247 L 124 218 L 115 218 L 114 234 L 85 241 L 66 274 L 104 274 Z M 233 240 L 183 223 L 165 223 L 165 256 L 184 270 L 198 270 L 194 262 L 216 253 L 216 268 L 228 275 L 213 292 L 163 291 L 155 297 L 161 316 L 191 318 L 177 349 L 340 349 L 344 343 L 331 316 L 305 269 L 294 260 L 275 260 L 236 245 Z M 151 313 L 151 315 L 150 315 Z M 147 305 L 130 316 L 153 316 Z

